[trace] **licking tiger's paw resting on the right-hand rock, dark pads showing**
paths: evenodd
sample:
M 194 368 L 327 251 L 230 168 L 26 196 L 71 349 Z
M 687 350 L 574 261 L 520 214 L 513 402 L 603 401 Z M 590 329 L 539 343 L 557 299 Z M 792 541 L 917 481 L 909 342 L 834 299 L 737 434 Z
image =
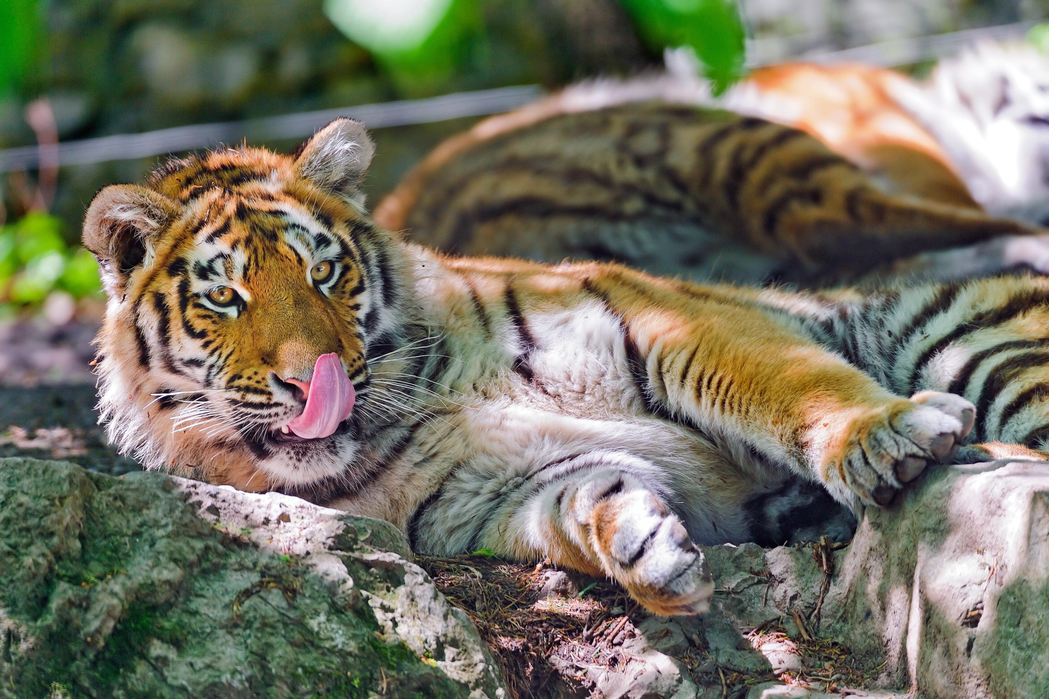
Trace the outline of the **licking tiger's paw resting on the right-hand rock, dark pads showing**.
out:
M 853 420 L 829 465 L 853 493 L 884 507 L 929 463 L 954 458 L 975 420 L 965 398 L 922 391 Z

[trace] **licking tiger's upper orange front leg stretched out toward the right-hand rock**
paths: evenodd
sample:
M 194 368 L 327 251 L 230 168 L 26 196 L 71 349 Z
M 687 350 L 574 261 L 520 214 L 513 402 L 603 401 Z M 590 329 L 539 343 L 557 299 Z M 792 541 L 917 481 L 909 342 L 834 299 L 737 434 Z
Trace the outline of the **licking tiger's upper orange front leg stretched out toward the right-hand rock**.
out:
M 895 395 L 789 322 L 729 292 L 706 293 L 687 325 L 630 309 L 645 390 L 704 432 L 821 482 L 839 502 L 887 505 L 971 431 L 976 409 L 965 398 Z

